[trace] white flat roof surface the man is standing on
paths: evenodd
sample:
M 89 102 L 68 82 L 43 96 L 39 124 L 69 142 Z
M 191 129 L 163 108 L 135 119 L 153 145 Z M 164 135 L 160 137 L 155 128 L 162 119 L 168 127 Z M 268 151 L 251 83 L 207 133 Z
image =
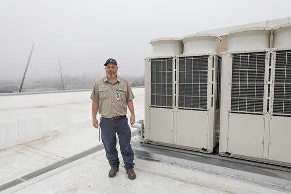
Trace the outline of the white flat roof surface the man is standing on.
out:
M 144 88 L 133 88 L 133 93 L 136 120 L 144 119 Z M 0 185 L 101 145 L 98 131 L 91 124 L 89 99 L 82 103 L 0 111 L 0 117 L 17 118 L 24 114 L 43 117 L 44 137 L 0 150 Z M 132 137 L 134 141 L 139 141 L 138 136 Z M 137 178 L 129 180 L 121 155 L 120 161 L 120 171 L 116 177 L 109 178 L 110 167 L 102 149 L 0 194 L 287 194 L 195 169 L 141 159 L 134 161 Z

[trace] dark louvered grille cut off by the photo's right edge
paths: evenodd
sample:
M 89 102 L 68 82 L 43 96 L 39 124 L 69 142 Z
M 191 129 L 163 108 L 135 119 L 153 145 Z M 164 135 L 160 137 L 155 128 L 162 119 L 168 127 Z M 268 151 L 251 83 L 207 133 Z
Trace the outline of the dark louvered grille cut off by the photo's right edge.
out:
M 273 114 L 291 115 L 291 50 L 276 52 Z

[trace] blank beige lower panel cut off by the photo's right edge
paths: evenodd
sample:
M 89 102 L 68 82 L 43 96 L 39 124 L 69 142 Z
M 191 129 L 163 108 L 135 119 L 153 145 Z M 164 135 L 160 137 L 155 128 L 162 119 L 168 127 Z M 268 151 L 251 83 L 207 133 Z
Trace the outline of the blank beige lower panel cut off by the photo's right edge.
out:
M 291 163 L 291 117 L 271 118 L 269 160 Z

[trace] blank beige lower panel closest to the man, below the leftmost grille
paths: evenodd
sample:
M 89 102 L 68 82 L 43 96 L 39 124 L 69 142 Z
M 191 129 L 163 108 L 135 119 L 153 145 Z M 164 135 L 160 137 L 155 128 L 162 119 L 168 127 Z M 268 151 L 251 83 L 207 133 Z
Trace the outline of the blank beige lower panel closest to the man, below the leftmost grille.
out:
M 149 109 L 149 139 L 173 144 L 173 109 Z

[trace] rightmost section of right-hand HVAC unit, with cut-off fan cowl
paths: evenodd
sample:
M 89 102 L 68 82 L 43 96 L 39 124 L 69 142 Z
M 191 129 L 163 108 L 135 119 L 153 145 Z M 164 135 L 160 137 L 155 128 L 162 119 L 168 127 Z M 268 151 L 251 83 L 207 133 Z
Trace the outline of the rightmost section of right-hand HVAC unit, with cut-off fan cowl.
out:
M 291 23 L 273 29 L 268 160 L 291 166 Z

